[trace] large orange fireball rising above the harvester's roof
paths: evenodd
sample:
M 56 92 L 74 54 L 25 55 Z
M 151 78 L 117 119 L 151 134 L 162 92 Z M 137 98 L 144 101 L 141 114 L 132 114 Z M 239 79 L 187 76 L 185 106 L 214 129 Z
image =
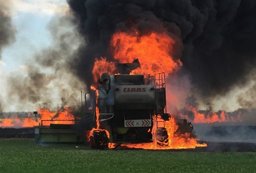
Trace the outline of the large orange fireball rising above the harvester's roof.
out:
M 181 61 L 175 60 L 173 56 L 176 43 L 176 40 L 164 32 L 139 36 L 137 31 L 131 34 L 116 32 L 110 41 L 112 55 L 120 63 L 139 58 L 141 68 L 133 70 L 132 74 L 152 75 L 159 72 L 169 74 L 182 66 Z

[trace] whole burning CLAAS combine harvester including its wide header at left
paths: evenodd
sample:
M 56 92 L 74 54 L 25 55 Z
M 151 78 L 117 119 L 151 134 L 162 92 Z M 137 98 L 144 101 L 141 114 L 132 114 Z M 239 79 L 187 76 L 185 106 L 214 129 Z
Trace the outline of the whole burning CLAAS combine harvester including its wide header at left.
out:
M 85 121 L 94 124 L 85 137 L 91 148 L 117 148 L 123 143 L 135 145 L 154 140 L 160 146 L 169 144 L 165 123 L 171 115 L 166 112 L 165 73 L 129 75 L 138 67 L 138 59 L 118 64 L 118 75 L 102 73 L 98 80 L 101 86 L 85 94 Z M 192 134 L 193 126 L 186 119 L 176 123 L 176 132 Z M 36 141 L 78 142 L 82 138 L 74 124 L 42 127 L 36 128 Z

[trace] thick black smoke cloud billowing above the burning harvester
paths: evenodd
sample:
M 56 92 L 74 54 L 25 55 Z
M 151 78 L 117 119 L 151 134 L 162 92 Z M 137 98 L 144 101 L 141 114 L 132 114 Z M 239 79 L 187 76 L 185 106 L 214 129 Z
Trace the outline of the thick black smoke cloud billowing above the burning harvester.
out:
M 87 46 L 77 51 L 76 73 L 91 82 L 95 58 L 112 61 L 108 44 L 117 30 L 135 21 L 141 32 L 159 22 L 181 34 L 181 74 L 211 97 L 245 83 L 256 64 L 256 2 L 250 0 L 68 0 Z

